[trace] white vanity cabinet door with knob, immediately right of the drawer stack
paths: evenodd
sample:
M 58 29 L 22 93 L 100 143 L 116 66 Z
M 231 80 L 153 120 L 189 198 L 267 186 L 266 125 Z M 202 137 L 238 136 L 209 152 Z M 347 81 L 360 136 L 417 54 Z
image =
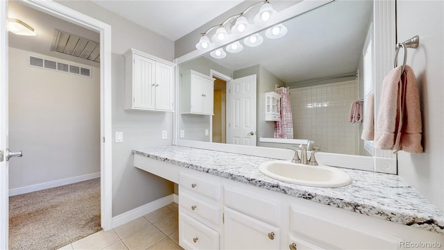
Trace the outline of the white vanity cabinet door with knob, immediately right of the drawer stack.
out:
M 225 249 L 280 249 L 279 228 L 225 207 Z

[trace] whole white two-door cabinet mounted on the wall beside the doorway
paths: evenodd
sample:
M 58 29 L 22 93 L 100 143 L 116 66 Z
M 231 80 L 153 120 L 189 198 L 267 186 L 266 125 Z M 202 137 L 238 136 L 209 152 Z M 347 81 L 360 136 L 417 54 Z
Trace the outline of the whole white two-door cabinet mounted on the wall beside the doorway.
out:
M 129 49 L 125 57 L 125 108 L 173 111 L 174 63 Z

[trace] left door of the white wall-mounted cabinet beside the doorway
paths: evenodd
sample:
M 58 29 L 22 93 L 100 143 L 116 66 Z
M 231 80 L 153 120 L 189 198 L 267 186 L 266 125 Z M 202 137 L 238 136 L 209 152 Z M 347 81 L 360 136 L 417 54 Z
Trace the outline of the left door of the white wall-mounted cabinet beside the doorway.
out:
M 134 55 L 133 107 L 155 108 L 154 60 Z

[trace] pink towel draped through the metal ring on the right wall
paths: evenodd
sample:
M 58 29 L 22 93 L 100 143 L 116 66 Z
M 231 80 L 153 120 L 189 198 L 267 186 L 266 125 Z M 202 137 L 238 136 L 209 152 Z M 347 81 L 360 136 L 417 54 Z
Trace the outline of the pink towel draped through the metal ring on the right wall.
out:
M 384 78 L 377 114 L 375 147 L 422 153 L 419 92 L 413 69 L 395 67 Z

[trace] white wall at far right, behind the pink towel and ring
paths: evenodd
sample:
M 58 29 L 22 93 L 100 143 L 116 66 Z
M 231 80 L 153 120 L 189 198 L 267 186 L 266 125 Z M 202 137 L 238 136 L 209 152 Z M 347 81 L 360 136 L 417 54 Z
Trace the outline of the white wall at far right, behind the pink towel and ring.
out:
M 407 64 L 420 89 L 425 151 L 400 151 L 398 173 L 444 211 L 444 1 L 397 1 L 396 12 L 398 42 L 420 37 L 418 49 L 408 49 Z

